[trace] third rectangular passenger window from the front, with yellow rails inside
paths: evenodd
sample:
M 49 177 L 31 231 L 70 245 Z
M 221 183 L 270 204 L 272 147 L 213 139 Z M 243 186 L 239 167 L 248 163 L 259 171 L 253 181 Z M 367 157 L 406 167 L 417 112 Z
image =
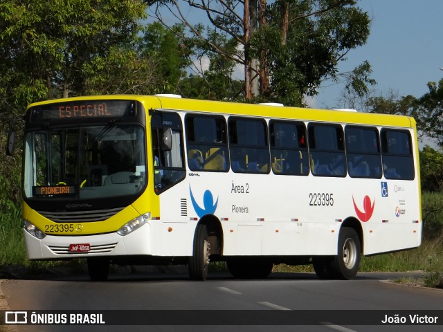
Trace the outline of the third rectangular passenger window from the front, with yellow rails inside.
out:
M 302 122 L 271 121 L 271 168 L 275 174 L 309 174 L 306 127 Z

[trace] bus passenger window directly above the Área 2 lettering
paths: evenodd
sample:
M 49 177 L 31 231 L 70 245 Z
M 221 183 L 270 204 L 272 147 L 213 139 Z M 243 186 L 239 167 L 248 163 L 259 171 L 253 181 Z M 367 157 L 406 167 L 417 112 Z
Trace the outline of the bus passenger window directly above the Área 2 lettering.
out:
M 236 173 L 269 173 L 264 120 L 229 118 L 230 167 Z

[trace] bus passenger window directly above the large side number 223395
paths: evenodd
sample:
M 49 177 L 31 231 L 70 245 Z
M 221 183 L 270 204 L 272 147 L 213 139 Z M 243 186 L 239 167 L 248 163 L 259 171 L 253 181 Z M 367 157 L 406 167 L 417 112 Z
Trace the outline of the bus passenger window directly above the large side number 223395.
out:
M 311 172 L 315 176 L 346 176 L 343 129 L 338 125 L 309 124 Z

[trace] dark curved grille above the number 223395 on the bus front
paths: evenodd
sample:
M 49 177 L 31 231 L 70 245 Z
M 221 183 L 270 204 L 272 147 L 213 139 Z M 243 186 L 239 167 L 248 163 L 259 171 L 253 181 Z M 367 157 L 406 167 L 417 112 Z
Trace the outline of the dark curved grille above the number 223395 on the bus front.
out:
M 123 210 L 123 208 L 89 211 L 37 212 L 55 223 L 87 223 L 88 221 L 104 221 L 121 210 Z

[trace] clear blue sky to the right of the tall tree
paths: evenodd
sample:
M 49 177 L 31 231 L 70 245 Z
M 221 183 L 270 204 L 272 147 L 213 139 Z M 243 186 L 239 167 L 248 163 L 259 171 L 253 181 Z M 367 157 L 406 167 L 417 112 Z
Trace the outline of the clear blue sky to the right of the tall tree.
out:
M 364 46 L 348 53 L 340 71 L 368 60 L 376 95 L 391 89 L 399 96 L 421 97 L 429 81 L 443 78 L 442 0 L 361 0 L 359 7 L 372 19 L 371 34 Z M 312 106 L 343 107 L 337 101 L 343 84 L 331 84 L 323 84 Z

